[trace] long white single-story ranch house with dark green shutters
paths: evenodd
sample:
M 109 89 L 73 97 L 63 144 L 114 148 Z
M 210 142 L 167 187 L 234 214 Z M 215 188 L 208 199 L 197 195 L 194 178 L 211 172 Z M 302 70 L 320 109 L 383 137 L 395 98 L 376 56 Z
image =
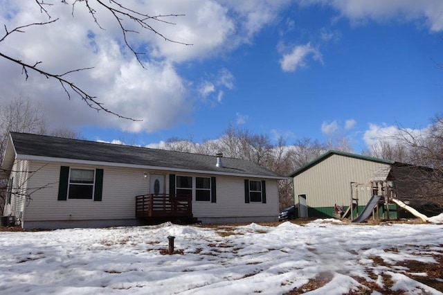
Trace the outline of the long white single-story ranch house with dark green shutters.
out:
M 8 179 L 3 216 L 24 229 L 134 226 L 176 217 L 272 222 L 284 178 L 221 155 L 16 132 L 0 172 Z

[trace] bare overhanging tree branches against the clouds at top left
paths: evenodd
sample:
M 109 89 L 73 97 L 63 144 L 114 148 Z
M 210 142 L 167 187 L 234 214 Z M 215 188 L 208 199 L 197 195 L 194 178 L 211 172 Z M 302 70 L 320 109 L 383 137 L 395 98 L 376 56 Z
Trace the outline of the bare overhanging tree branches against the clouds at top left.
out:
M 136 51 L 136 45 L 130 42 L 130 35 L 138 34 L 138 33 L 153 33 L 168 42 L 179 43 L 183 45 L 191 45 L 182 42 L 177 42 L 175 40 L 169 39 L 165 35 L 163 35 L 159 30 L 156 30 L 155 24 L 170 24 L 174 25 L 170 19 L 172 17 L 180 17 L 182 15 L 150 15 L 147 12 L 139 12 L 132 8 L 125 1 L 117 1 L 117 0 L 73 0 L 69 3 L 67 0 L 59 1 L 59 3 L 53 3 L 51 0 L 35 0 L 35 5 L 39 7 L 39 10 L 42 14 L 48 17 L 48 21 L 35 22 L 29 24 L 23 24 L 21 26 L 17 26 L 15 28 L 7 28 L 6 25 L 5 33 L 3 36 L 0 36 L 0 44 L 3 42 L 7 42 L 8 39 L 12 35 L 16 35 L 19 33 L 25 33 L 26 29 L 30 27 L 40 26 L 45 27 L 47 29 L 51 29 L 51 26 L 55 24 L 60 17 L 57 15 L 52 15 L 51 6 L 55 5 L 71 5 L 72 6 L 72 15 L 75 15 L 75 9 L 79 8 L 79 6 L 84 6 L 86 10 L 91 15 L 91 18 L 96 23 L 99 28 L 102 28 L 100 24 L 100 20 L 98 19 L 97 11 L 98 8 L 105 8 L 105 10 L 114 18 L 114 21 L 120 27 L 121 37 L 123 39 L 123 44 L 129 48 L 138 62 L 143 66 L 143 62 L 141 61 L 141 56 L 145 53 Z M 55 18 L 54 18 L 55 17 Z M 138 25 L 139 30 L 132 29 L 132 24 Z M 102 28 L 104 29 L 104 28 Z M 84 87 L 78 86 L 74 84 L 73 80 L 70 79 L 70 75 L 75 72 L 86 71 L 92 69 L 93 67 L 81 68 L 81 69 L 68 69 L 63 73 L 54 73 L 51 71 L 46 71 L 42 67 L 42 61 L 33 60 L 33 61 L 24 61 L 20 60 L 19 57 L 12 56 L 8 53 L 0 51 L 0 57 L 3 57 L 10 62 L 13 62 L 21 67 L 21 72 L 25 75 L 25 79 L 27 80 L 30 72 L 39 73 L 44 75 L 44 77 L 48 79 L 53 79 L 60 83 L 60 86 L 66 93 L 68 98 L 71 96 L 78 96 L 91 108 L 96 109 L 97 111 L 106 111 L 107 113 L 114 114 L 120 118 L 126 118 L 129 120 L 135 120 L 133 118 L 129 118 L 127 116 L 122 116 L 121 114 L 116 113 L 115 111 L 111 111 L 107 109 L 101 102 L 98 101 L 96 96 L 93 96 L 91 93 L 88 93 Z M 143 66 L 144 67 L 144 66 Z

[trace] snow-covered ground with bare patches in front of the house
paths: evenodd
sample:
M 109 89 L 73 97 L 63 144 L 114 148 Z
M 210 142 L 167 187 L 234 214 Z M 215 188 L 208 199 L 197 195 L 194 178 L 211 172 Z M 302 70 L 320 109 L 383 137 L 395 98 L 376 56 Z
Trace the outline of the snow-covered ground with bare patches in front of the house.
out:
M 177 253 L 164 255 L 170 235 Z M 322 276 L 328 283 L 309 294 L 360 294 L 363 281 L 443 294 L 411 278 L 426 272 L 401 266 L 413 260 L 432 267 L 442 253 L 442 224 L 316 220 L 1 232 L 0 294 L 284 294 Z

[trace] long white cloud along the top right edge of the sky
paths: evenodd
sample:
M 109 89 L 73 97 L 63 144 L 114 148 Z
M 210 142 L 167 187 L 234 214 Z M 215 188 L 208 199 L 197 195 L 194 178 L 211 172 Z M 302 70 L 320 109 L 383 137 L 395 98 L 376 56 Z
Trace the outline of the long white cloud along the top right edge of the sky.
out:
M 308 6 L 322 3 L 338 10 L 341 17 L 350 19 L 353 24 L 368 20 L 424 21 L 431 32 L 443 30 L 443 1 L 440 0 L 302 0 Z

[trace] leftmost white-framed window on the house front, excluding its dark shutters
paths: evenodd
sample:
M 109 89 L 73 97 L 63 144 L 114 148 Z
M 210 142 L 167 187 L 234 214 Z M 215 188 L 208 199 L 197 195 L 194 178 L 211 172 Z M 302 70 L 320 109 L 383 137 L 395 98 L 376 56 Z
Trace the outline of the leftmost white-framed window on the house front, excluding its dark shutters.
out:
M 71 168 L 69 172 L 69 199 L 93 199 L 96 170 Z

